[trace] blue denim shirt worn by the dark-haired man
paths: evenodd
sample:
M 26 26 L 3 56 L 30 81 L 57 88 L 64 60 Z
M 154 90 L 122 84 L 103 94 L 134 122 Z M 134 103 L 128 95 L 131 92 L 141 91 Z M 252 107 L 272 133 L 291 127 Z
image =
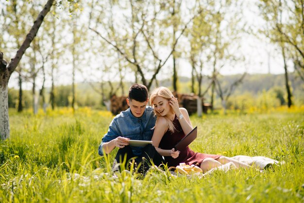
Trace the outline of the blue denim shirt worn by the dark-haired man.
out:
M 118 136 L 136 140 L 151 140 L 154 132 L 156 117 L 151 106 L 146 106 L 144 114 L 140 118 L 132 115 L 130 108 L 122 111 L 110 123 L 108 132 L 102 137 L 98 148 L 99 155 L 103 155 L 102 144 L 109 142 Z M 143 147 L 132 147 L 135 156 L 142 153 Z

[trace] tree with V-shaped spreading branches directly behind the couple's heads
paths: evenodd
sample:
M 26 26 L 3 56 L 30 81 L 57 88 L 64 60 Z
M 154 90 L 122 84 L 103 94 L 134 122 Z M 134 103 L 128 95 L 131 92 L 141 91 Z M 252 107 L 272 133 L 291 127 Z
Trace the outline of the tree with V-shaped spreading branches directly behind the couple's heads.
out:
M 139 74 L 148 89 L 169 60 L 188 24 L 200 13 L 197 11 L 180 25 L 179 35 L 168 46 L 163 40 L 168 28 L 160 23 L 167 20 L 168 12 L 164 12 L 164 5 L 158 1 L 94 1 L 92 8 L 90 29 L 132 65 L 135 80 Z M 105 21 L 105 18 L 109 20 Z M 164 49 L 168 50 L 165 54 Z M 151 78 L 149 82 L 147 77 Z

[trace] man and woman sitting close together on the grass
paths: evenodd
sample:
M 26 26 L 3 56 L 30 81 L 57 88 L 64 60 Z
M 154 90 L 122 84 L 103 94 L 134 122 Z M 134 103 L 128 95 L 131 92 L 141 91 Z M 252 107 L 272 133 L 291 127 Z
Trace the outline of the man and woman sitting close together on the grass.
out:
M 110 153 L 118 147 L 113 170 L 129 169 L 130 160 L 145 173 L 151 164 L 167 164 L 176 167 L 180 163 L 196 165 L 203 172 L 232 162 L 236 168 L 249 165 L 222 155 L 193 152 L 189 147 L 174 151 L 174 146 L 193 128 L 185 108 L 179 108 L 178 101 L 166 87 L 152 91 L 151 106 L 148 104 L 148 89 L 135 84 L 129 89 L 127 104 L 129 109 L 122 111 L 110 123 L 108 132 L 103 136 L 99 154 Z M 156 117 L 155 117 L 156 116 Z M 131 147 L 129 140 L 152 140 L 145 147 Z M 163 159 L 163 157 L 165 159 Z M 123 165 L 123 166 L 122 166 Z

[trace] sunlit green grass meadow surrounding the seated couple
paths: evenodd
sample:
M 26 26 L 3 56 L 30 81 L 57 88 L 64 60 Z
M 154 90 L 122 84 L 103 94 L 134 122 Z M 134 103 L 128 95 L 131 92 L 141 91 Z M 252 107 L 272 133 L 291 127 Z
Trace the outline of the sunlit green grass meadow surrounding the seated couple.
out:
M 202 179 L 154 171 L 113 178 L 98 145 L 113 116 L 70 109 L 10 111 L 11 138 L 0 141 L 0 202 L 304 202 L 304 112 L 191 117 L 196 152 L 267 156 L 286 164 L 216 171 Z

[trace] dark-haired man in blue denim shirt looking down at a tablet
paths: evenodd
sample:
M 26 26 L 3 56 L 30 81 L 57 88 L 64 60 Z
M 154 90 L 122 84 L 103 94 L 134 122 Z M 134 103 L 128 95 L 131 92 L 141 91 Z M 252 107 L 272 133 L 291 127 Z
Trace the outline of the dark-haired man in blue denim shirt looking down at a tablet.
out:
M 122 111 L 110 123 L 108 132 L 103 136 L 98 148 L 99 154 L 110 153 L 116 147 L 119 148 L 114 160 L 113 170 L 117 170 L 116 163 L 125 161 L 125 169 L 129 168 L 129 161 L 134 158 L 135 163 L 141 163 L 140 172 L 148 169 L 147 161 L 152 159 L 154 165 L 163 162 L 162 156 L 156 152 L 152 144 L 145 147 L 129 146 L 129 139 L 151 140 L 153 127 L 155 126 L 155 116 L 151 106 L 147 106 L 149 101 L 148 89 L 145 85 L 135 84 L 129 89 L 127 104 L 129 108 Z M 143 160 L 145 159 L 145 160 Z M 121 169 L 121 168 L 120 168 Z

